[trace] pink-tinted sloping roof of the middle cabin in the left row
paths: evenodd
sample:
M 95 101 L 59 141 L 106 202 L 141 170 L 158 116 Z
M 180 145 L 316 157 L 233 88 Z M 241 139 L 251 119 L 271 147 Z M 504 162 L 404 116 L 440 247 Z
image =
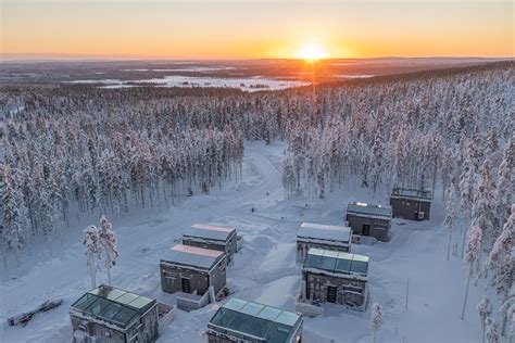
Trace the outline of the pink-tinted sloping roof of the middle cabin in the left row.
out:
M 161 261 L 169 264 L 211 269 L 223 257 L 224 253 L 219 251 L 177 244 L 168 250 Z

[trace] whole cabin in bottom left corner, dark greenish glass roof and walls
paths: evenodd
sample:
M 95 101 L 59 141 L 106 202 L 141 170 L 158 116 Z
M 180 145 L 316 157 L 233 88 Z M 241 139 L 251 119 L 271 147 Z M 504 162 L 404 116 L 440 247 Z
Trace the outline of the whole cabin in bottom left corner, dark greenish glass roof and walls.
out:
M 70 307 L 73 342 L 155 342 L 173 307 L 102 284 Z

